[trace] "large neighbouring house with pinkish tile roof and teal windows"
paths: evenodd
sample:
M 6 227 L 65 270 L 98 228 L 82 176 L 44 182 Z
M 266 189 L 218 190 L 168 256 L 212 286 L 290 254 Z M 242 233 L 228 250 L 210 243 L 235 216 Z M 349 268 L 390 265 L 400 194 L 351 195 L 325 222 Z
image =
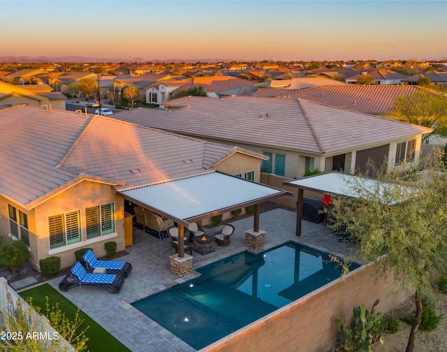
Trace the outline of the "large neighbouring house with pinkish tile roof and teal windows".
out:
M 388 170 L 418 163 L 422 135 L 431 129 L 302 99 L 189 96 L 168 110 L 114 114 L 142 126 L 238 145 L 269 156 L 263 171 L 288 178 L 305 170 L 364 170 L 368 159 Z M 402 152 L 403 150 L 403 152 Z

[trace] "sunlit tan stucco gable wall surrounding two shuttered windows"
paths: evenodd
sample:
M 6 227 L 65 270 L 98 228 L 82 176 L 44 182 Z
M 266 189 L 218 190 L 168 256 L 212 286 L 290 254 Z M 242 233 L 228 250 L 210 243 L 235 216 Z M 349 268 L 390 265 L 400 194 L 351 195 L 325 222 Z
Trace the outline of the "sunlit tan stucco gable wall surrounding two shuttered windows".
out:
M 111 202 L 114 203 L 115 210 L 115 233 L 87 240 L 85 208 Z M 48 217 L 75 210 L 80 210 L 82 240 L 64 247 L 50 249 Z M 70 189 L 38 205 L 34 209 L 33 217 L 29 216 L 29 225 L 30 231 L 36 234 L 36 244 L 31 247 L 30 243 L 30 247 L 31 253 L 34 252 L 33 262 L 37 266 L 39 266 L 38 261 L 43 258 L 59 256 L 61 268 L 69 267 L 75 263 L 74 251 L 85 247 L 93 249 L 98 257 L 105 256 L 104 243 L 109 241 L 117 242 L 117 251 L 124 250 L 124 201 L 112 191 L 108 184 L 90 181 L 75 184 Z

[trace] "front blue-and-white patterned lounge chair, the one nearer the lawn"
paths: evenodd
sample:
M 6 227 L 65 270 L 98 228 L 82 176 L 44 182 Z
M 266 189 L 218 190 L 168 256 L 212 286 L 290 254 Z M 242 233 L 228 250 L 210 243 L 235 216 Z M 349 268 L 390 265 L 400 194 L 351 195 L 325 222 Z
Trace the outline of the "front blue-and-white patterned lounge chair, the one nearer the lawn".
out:
M 82 285 L 101 286 L 110 293 L 119 293 L 124 285 L 124 278 L 118 274 L 91 274 L 77 262 L 59 283 L 59 290 L 66 292 L 76 286 L 81 288 Z

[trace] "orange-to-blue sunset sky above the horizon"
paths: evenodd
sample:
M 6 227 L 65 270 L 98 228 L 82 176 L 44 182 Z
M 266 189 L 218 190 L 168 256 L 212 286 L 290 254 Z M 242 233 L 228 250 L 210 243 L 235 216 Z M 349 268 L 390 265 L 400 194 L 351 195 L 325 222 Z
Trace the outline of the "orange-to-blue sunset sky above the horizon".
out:
M 447 1 L 2 1 L 0 57 L 443 59 Z

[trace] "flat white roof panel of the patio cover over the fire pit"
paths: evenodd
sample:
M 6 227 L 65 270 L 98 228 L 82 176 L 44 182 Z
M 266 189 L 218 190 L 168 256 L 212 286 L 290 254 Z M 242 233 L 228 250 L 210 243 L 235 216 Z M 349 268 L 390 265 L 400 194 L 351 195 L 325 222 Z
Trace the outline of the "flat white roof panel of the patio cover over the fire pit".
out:
M 218 172 L 135 187 L 117 193 L 184 226 L 288 194 L 282 189 Z

